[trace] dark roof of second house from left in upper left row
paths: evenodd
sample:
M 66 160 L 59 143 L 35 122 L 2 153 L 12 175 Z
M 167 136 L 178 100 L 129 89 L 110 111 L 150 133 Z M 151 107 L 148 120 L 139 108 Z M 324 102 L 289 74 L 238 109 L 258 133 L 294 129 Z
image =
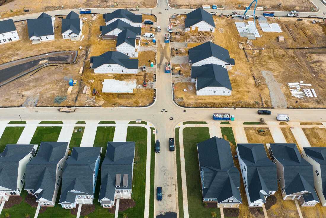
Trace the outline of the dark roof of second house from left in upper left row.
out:
M 41 27 L 41 28 L 40 28 Z M 52 17 L 42 13 L 37 19 L 27 20 L 28 38 L 53 35 Z

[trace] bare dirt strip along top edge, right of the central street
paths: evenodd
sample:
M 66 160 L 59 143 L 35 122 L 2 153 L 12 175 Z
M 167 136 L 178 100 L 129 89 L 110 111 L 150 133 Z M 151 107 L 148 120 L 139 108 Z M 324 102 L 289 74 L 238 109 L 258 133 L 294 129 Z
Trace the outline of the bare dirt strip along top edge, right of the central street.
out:
M 217 4 L 219 8 L 225 9 L 242 9 L 244 10 L 252 0 L 199 0 L 199 1 L 183 1 L 183 0 L 170 0 L 170 6 L 172 8 L 199 8 L 202 5 Z M 278 4 L 282 3 L 282 7 Z M 316 9 L 316 6 L 309 0 L 260 0 L 257 7 L 264 7 L 265 10 L 277 10 L 277 11 L 312 11 Z

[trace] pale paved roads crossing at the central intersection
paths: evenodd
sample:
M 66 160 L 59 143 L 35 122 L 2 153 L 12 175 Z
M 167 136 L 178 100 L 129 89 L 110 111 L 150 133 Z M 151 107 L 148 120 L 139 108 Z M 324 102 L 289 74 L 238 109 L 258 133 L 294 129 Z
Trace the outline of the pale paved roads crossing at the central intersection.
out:
M 300 12 L 300 16 L 318 15 L 322 17 L 322 11 L 325 7 L 319 0 L 313 0 L 314 4 L 322 8 L 317 13 Z M 116 9 L 116 8 L 115 8 Z M 108 13 L 115 9 L 92 9 L 95 13 Z M 168 10 L 165 10 L 168 9 Z M 48 14 L 64 15 L 71 10 L 49 11 Z M 78 12 L 78 9 L 74 10 Z M 170 8 L 165 0 L 159 0 L 157 7 L 152 9 L 140 9 L 138 13 L 152 13 L 157 16 L 157 24 L 166 27 L 169 24 L 170 15 L 179 13 L 188 13 L 189 9 Z M 210 10 L 216 11 L 216 10 Z M 217 13 L 230 14 L 233 10 L 221 10 Z M 239 11 L 240 12 L 240 11 Z M 252 12 L 249 12 L 249 14 Z M 257 11 L 260 15 L 262 11 Z M 288 12 L 275 12 L 276 16 L 285 16 Z M 14 17 L 14 21 L 36 18 L 40 13 L 28 14 Z M 21 115 L 23 120 L 128 120 L 143 119 L 150 121 L 156 126 L 157 139 L 161 142 L 161 152 L 156 154 L 156 186 L 163 187 L 163 200 L 155 201 L 155 215 L 164 212 L 177 212 L 177 195 L 176 195 L 176 169 L 174 153 L 168 150 L 168 138 L 173 137 L 174 127 L 177 123 L 185 120 L 211 120 L 215 112 L 224 112 L 235 115 L 237 120 L 255 121 L 261 116 L 257 115 L 256 109 L 195 109 L 181 108 L 173 103 L 171 75 L 164 73 L 164 63 L 170 60 L 170 47 L 165 44 L 163 39 L 167 33 L 166 28 L 157 34 L 158 52 L 156 75 L 156 102 L 147 108 L 79 108 L 75 113 L 60 113 L 56 108 L 10 108 L 0 109 L 0 120 L 19 120 Z M 167 112 L 160 112 L 165 109 Z M 184 110 L 186 110 L 184 112 Z M 326 121 L 326 110 L 304 110 L 304 109 L 273 109 L 272 113 L 289 114 L 293 121 Z M 169 118 L 173 117 L 173 120 Z M 264 117 L 265 121 L 274 121 L 275 116 Z

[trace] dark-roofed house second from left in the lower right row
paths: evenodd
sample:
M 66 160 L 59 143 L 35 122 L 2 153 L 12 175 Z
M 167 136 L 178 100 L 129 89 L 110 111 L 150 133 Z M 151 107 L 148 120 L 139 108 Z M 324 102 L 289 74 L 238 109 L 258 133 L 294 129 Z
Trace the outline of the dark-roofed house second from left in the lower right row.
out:
M 244 189 L 249 207 L 262 207 L 278 190 L 276 166 L 267 157 L 264 144 L 237 144 Z

